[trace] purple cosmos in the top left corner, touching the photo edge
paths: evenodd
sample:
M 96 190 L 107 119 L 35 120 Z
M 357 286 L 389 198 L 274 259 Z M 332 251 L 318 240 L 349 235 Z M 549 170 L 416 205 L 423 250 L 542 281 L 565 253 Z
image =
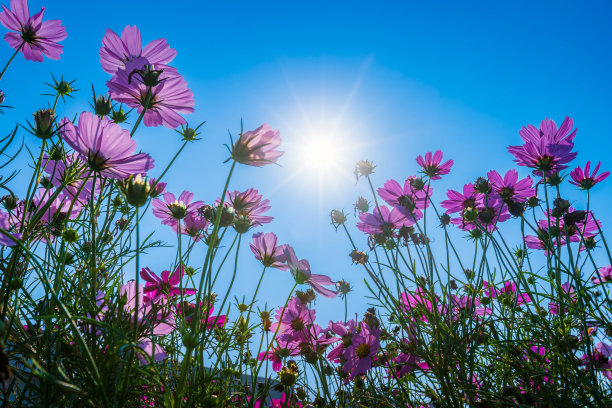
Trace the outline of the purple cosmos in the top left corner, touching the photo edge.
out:
M 21 50 L 25 59 L 42 62 L 43 54 L 57 60 L 63 52 L 58 44 L 67 37 L 60 20 L 42 21 L 45 8 L 30 17 L 27 0 L 11 0 L 11 8 L 0 13 L 0 24 L 14 33 L 6 33 L 4 39 L 9 45 Z

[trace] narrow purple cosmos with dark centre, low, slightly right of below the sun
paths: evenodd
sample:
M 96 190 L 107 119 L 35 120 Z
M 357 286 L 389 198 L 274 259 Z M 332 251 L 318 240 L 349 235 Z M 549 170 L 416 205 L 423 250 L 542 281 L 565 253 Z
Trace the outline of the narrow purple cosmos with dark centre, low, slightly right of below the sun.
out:
M 355 334 L 350 346 L 344 351 L 343 369 L 349 376 L 345 383 L 353 380 L 356 376 L 367 373 L 372 368 L 372 360 L 380 349 L 380 328 L 370 327 L 361 322 L 361 330 Z

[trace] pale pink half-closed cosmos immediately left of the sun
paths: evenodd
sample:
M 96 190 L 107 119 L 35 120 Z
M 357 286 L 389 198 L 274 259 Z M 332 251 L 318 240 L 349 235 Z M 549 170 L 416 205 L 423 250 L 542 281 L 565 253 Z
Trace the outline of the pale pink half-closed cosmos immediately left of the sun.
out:
M 284 153 L 276 150 L 280 144 L 279 131 L 264 123 L 257 129 L 240 135 L 234 143 L 232 158 L 238 163 L 257 167 L 276 163 Z

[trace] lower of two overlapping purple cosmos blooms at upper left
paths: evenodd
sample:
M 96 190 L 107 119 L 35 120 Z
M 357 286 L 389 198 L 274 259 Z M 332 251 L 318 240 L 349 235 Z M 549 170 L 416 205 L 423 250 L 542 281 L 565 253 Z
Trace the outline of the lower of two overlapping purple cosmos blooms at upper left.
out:
M 195 101 L 185 79 L 171 67 L 156 70 L 147 65 L 143 70 L 137 65 L 128 63 L 106 83 L 113 100 L 136 108 L 139 114 L 147 106 L 143 118 L 146 126 L 176 129 L 186 124 L 179 113 L 193 113 Z M 155 77 L 152 82 L 149 75 Z

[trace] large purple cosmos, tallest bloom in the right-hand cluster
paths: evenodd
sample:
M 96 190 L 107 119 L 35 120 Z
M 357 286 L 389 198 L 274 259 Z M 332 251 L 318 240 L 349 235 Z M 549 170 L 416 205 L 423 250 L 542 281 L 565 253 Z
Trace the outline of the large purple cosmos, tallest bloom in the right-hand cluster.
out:
M 508 151 L 519 166 L 532 168 L 535 175 L 548 176 L 566 169 L 566 164 L 578 154 L 572 152 L 577 131 L 572 131 L 573 127 L 574 121 L 569 116 L 559 129 L 552 119 L 544 119 L 540 129 L 527 125 L 519 131 L 523 145 L 509 146 Z

